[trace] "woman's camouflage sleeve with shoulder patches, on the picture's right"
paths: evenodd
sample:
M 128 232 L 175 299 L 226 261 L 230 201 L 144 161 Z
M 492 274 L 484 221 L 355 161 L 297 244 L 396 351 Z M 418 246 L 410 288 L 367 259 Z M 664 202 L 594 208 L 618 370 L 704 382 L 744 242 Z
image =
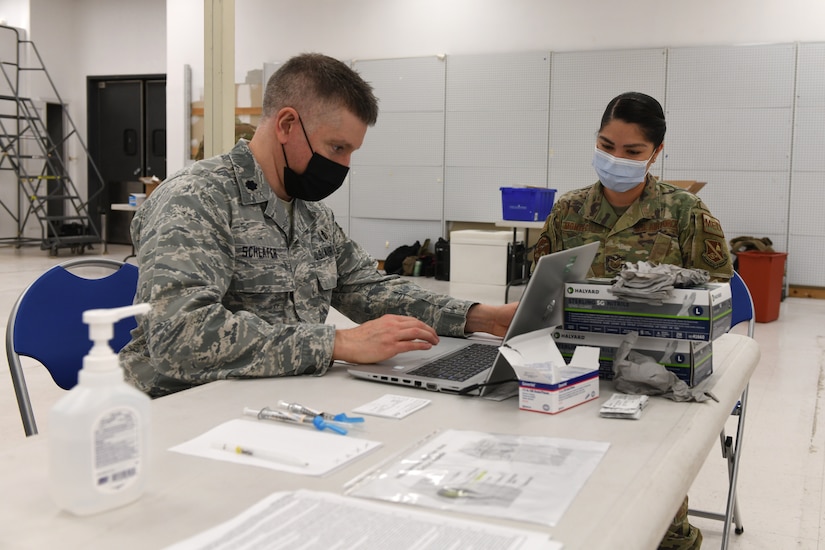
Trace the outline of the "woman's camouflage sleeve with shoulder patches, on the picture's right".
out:
M 705 269 L 713 280 L 727 281 L 731 278 L 733 264 L 722 224 L 701 200 L 690 211 L 688 230 L 682 239 L 686 267 Z

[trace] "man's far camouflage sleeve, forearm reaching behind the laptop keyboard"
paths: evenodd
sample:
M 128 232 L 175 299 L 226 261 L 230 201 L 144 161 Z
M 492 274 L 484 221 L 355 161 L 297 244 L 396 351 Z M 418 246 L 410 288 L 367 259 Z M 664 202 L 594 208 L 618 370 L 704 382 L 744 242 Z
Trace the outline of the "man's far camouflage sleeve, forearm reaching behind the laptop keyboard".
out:
M 382 275 L 357 243 L 337 231 L 338 286 L 332 305 L 357 323 L 391 313 L 420 319 L 443 336 L 463 336 L 474 302 L 430 292 L 397 275 Z

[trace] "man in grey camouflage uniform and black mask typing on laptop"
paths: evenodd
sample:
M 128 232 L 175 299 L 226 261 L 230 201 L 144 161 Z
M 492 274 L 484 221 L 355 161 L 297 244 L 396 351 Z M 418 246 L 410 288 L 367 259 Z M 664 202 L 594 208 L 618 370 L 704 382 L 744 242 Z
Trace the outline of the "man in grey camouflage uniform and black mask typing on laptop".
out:
M 157 397 L 225 378 L 324 374 L 438 343 L 503 335 L 515 304 L 488 306 L 384 276 L 319 202 L 344 180 L 375 123 L 372 88 L 340 61 L 305 54 L 267 84 L 251 141 L 171 176 L 136 212 L 148 302 L 120 353 Z M 330 306 L 362 323 L 324 324 Z

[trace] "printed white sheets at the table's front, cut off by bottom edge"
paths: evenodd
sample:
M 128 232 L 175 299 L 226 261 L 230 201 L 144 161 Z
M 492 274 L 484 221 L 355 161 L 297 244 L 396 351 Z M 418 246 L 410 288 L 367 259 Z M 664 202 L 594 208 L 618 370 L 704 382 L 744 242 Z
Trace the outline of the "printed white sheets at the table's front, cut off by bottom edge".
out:
M 487 550 L 561 550 L 544 533 L 439 517 L 332 493 L 274 493 L 233 519 L 167 550 L 372 550 L 481 547 Z

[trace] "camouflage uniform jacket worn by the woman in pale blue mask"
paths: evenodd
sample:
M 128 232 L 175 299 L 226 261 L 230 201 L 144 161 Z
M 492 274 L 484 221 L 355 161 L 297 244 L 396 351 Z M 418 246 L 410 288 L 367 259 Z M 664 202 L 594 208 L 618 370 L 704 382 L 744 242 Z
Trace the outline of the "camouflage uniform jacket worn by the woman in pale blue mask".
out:
M 592 277 L 613 277 L 625 262 L 649 261 L 705 269 L 712 279 L 733 274 L 722 225 L 699 197 L 647 175 L 624 213 L 607 202 L 601 183 L 564 194 L 547 218 L 535 259 L 599 241 Z

